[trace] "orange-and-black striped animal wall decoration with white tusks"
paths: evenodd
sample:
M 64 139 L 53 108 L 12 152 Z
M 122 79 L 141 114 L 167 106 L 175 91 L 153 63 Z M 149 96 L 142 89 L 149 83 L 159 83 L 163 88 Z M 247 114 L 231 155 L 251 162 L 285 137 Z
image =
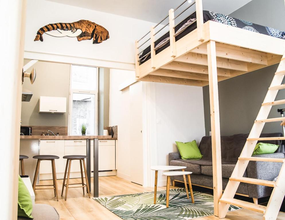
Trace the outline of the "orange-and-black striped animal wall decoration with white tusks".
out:
M 57 33 L 47 33 L 52 30 L 58 30 Z M 91 40 L 93 44 L 102 43 L 109 39 L 109 32 L 103 26 L 88 20 L 80 20 L 72 23 L 54 23 L 40 28 L 34 41 L 43 41 L 42 35 L 46 33 L 55 37 L 77 37 L 78 41 Z

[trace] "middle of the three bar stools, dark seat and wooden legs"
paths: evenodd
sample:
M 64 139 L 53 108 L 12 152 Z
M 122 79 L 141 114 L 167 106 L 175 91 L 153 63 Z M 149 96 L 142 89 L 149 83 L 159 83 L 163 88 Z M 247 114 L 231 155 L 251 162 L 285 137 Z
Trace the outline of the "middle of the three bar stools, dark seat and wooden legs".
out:
M 34 176 L 34 181 L 33 181 L 33 190 L 34 191 L 36 190 L 36 186 L 53 186 L 53 188 L 38 188 L 38 189 L 53 189 L 54 190 L 54 196 L 56 196 L 56 200 L 58 201 L 58 195 L 57 195 L 58 192 L 57 192 L 57 182 L 56 182 L 56 171 L 55 171 L 54 159 L 59 159 L 59 157 L 54 156 L 54 155 L 36 155 L 36 156 L 33 156 L 33 158 L 38 159 L 36 171 L 35 171 L 35 176 Z M 52 181 L 53 181 L 52 185 L 36 185 L 41 160 L 50 160 L 51 161 Z

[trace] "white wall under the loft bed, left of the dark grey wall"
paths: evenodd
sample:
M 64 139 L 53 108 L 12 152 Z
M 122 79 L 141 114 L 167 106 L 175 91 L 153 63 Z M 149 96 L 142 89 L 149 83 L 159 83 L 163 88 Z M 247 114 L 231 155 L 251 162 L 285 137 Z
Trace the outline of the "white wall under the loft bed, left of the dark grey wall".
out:
M 176 152 L 175 141 L 199 144 L 205 135 L 202 87 L 151 83 L 149 95 L 150 165 L 168 165 L 168 154 Z M 146 169 L 149 167 L 145 166 Z M 146 172 L 145 185 L 154 185 L 154 171 Z M 166 185 L 159 172 L 158 185 Z

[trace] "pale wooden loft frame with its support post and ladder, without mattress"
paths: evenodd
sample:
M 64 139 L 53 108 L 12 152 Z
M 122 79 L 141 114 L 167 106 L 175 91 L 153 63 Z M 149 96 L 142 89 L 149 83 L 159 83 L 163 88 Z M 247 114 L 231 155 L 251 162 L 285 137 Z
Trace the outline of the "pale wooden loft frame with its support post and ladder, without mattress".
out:
M 184 1 L 181 5 L 183 5 Z M 285 74 L 285 40 L 264 34 L 243 30 L 215 21 L 203 22 L 202 0 L 196 0 L 197 28 L 175 42 L 176 9 L 170 9 L 169 34 L 170 46 L 156 54 L 155 27 L 150 34 L 151 58 L 139 65 L 139 41 L 135 42 L 136 80 L 163 82 L 180 85 L 209 85 L 210 113 L 212 132 L 214 215 L 224 218 L 229 205 L 263 213 L 263 219 L 276 219 L 285 195 L 284 160 L 275 158 L 251 157 L 258 140 L 285 140 L 284 137 L 260 138 L 264 124 L 272 121 L 284 121 L 284 118 L 268 119 L 272 105 L 285 104 L 284 100 L 275 101 L 278 90 L 285 89 L 282 80 Z M 191 5 L 193 5 L 191 4 Z M 189 8 L 189 7 L 188 7 Z M 166 17 L 166 18 L 167 18 Z M 165 19 L 166 19 L 165 18 Z M 161 21 L 162 22 L 162 21 Z M 160 22 L 160 23 L 161 23 Z M 165 25 L 165 27 L 167 27 Z M 147 35 L 148 35 L 147 34 Z M 145 36 L 147 36 L 145 35 Z M 144 37 L 145 37 L 144 36 Z M 280 62 L 281 61 L 281 62 Z M 253 70 L 280 63 L 272 80 L 268 93 L 261 104 L 261 109 L 253 124 L 239 161 L 222 192 L 221 148 L 220 148 L 220 115 L 218 101 L 218 81 L 226 80 Z M 243 178 L 243 173 L 250 160 L 282 162 L 277 182 Z M 261 206 L 233 199 L 240 182 L 274 186 L 268 206 Z

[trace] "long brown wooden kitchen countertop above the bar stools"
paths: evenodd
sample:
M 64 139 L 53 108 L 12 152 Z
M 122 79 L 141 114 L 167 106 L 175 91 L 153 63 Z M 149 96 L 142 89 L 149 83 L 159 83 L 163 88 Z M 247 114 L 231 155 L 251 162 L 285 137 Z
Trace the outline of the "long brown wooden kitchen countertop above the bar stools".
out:
M 117 140 L 117 138 L 112 138 L 111 135 L 67 135 L 67 136 L 43 136 L 43 135 L 20 135 L 20 139 L 39 139 L 39 140 L 86 140 L 98 138 L 99 140 Z

